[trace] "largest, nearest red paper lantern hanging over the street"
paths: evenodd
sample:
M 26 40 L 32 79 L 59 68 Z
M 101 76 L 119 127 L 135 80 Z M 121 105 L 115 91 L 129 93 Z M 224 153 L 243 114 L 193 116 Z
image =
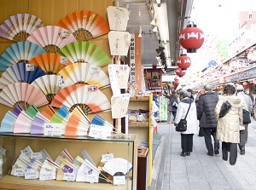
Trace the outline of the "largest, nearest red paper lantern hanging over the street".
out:
M 195 53 L 204 43 L 205 35 L 196 25 L 188 25 L 179 34 L 179 43 L 188 53 Z

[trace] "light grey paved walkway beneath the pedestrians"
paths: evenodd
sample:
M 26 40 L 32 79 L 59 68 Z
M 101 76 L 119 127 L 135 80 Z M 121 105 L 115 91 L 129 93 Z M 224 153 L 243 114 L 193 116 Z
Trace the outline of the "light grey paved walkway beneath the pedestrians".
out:
M 158 124 L 162 135 L 154 156 L 153 181 L 149 190 L 256 190 L 256 121 L 248 127 L 246 154 L 237 156 L 236 164 L 222 159 L 220 153 L 207 155 L 204 138 L 194 135 L 194 149 L 181 157 L 181 137 L 173 124 Z

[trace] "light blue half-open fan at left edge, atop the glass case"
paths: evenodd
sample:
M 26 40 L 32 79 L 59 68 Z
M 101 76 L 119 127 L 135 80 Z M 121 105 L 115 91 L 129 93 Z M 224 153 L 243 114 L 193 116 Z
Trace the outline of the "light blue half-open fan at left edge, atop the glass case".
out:
M 0 132 L 12 133 L 14 132 L 14 126 L 17 116 L 11 111 L 5 113 L 1 122 Z

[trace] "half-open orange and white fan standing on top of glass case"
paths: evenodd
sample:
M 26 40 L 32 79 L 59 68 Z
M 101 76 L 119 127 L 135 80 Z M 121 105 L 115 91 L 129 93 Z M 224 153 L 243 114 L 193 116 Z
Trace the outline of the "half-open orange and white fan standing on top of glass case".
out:
M 75 107 L 71 112 L 70 118 L 67 121 L 65 135 L 79 136 L 88 135 L 90 123 L 84 112 L 79 107 Z

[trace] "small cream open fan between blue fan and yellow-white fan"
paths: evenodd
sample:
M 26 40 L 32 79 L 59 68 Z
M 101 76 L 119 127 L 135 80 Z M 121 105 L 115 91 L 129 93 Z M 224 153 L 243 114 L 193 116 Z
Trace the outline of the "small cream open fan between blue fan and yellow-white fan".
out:
M 34 80 L 31 84 L 40 89 L 50 103 L 53 97 L 62 89 L 61 81 L 63 81 L 61 76 L 44 75 Z

